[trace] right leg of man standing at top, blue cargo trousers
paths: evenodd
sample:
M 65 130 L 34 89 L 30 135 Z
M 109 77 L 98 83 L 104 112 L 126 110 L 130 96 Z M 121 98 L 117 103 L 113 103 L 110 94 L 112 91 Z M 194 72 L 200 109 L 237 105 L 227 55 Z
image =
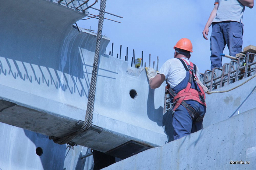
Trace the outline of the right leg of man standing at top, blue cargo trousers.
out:
M 234 56 L 242 51 L 243 45 L 243 24 L 241 22 L 229 21 L 225 24 L 224 30 L 228 37 L 227 45 L 230 55 Z

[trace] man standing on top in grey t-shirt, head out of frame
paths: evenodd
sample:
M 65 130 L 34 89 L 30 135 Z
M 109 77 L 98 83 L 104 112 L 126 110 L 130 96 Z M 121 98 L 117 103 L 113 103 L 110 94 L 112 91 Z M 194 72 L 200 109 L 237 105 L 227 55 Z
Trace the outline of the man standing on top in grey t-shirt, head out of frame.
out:
M 210 50 L 211 70 L 222 66 L 223 50 L 227 44 L 230 55 L 242 51 L 243 12 L 245 7 L 252 8 L 254 0 L 215 0 L 213 11 L 203 30 L 203 37 L 208 40 L 209 27 L 212 25 Z

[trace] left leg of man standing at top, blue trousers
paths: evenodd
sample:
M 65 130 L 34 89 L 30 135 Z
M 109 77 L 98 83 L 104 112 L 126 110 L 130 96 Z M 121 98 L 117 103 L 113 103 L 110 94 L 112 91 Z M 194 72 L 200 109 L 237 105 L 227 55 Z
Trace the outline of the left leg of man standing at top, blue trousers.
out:
M 210 39 L 210 50 L 211 50 L 211 70 L 214 67 L 222 66 L 222 57 L 220 56 L 223 53 L 226 42 L 223 38 L 223 22 L 213 23 L 211 39 Z

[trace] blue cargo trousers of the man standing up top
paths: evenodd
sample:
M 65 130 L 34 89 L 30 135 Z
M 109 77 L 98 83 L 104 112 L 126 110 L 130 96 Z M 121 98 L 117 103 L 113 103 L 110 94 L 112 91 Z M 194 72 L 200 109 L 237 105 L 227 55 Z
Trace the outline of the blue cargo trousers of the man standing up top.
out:
M 213 22 L 210 39 L 211 70 L 222 66 L 223 50 L 227 44 L 229 55 L 235 56 L 242 51 L 243 24 L 236 21 Z

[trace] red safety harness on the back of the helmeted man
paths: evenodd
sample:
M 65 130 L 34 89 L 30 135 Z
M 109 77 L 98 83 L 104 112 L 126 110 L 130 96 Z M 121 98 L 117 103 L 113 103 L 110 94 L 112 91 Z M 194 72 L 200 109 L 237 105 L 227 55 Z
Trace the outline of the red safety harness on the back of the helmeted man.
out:
M 200 91 L 196 90 L 196 89 L 192 89 L 191 88 L 191 83 L 193 82 L 193 78 L 194 80 L 198 80 L 198 78 L 196 77 L 196 74 L 194 73 L 194 67 L 193 67 L 193 63 L 190 62 L 190 64 L 188 64 L 188 62 L 186 62 L 186 60 L 182 59 L 188 66 L 188 70 L 189 70 L 189 81 L 188 81 L 188 85 L 186 86 L 185 89 L 179 91 L 176 95 L 173 95 L 173 101 L 177 100 L 177 103 L 175 104 L 173 111 L 175 111 L 182 103 L 182 101 L 184 100 L 195 100 L 198 103 L 206 106 L 205 103 L 205 93 L 203 91 L 202 86 L 200 86 L 197 82 L 196 84 L 198 85 Z M 169 92 L 170 93 L 170 92 Z M 171 93 L 170 93 L 171 94 Z

